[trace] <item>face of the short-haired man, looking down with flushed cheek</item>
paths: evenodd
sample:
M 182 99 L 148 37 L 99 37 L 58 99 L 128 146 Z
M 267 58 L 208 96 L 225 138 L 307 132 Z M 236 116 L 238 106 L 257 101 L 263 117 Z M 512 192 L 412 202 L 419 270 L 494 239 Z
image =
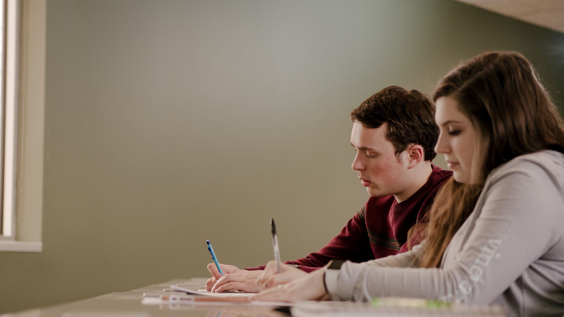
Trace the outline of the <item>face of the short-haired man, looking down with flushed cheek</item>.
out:
M 351 145 L 356 156 L 352 169 L 371 196 L 399 195 L 409 182 L 406 175 L 408 157 L 401 161 L 395 155 L 394 145 L 386 139 L 387 123 L 376 129 L 364 127 L 359 122 L 352 125 Z

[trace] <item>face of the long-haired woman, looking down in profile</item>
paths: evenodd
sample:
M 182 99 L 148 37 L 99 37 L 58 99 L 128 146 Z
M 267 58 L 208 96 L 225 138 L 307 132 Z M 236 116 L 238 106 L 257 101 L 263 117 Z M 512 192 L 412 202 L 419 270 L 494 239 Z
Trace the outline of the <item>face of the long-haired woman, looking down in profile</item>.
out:
M 435 152 L 443 153 L 448 168 L 457 182 L 470 184 L 474 151 L 479 142 L 472 122 L 459 110 L 459 103 L 450 97 L 440 97 L 436 102 L 435 122 L 440 134 Z M 479 156 L 478 156 L 479 157 Z

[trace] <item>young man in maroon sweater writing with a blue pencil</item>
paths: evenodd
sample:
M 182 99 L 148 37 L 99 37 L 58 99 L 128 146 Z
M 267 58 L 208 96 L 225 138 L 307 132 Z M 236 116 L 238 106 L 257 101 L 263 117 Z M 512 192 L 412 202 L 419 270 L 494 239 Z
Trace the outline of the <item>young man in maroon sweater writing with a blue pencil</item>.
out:
M 406 252 L 418 244 L 417 236 L 407 241 L 408 231 L 424 221 L 439 187 L 452 175 L 431 164 L 439 135 L 434 109 L 429 97 L 419 91 L 390 86 L 352 110 L 351 145 L 356 152 L 352 169 L 358 171 L 371 196 L 363 208 L 318 252 L 285 262 L 301 271 L 276 274 L 259 285 L 257 279 L 265 266 L 239 270 L 222 265 L 222 276 L 215 263 L 210 263 L 213 277 L 206 289 L 258 292 L 299 278 L 331 259 L 365 262 Z

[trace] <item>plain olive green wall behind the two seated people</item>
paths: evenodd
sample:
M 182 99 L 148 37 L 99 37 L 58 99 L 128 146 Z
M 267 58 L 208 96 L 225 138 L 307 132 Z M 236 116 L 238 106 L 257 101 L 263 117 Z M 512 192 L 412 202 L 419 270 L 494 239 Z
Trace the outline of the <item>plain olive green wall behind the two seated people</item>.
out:
M 0 253 L 0 312 L 206 276 L 206 239 L 265 263 L 271 217 L 318 250 L 368 198 L 350 109 L 487 50 L 562 106 L 564 34 L 458 2 L 50 0 L 43 252 Z

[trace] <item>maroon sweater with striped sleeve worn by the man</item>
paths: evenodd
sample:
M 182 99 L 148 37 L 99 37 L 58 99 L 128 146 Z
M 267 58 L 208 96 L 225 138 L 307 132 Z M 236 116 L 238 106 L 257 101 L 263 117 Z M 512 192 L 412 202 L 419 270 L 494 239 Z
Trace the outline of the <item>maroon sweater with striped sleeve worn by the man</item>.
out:
M 408 250 L 407 232 L 413 225 L 424 220 L 440 186 L 451 177 L 452 171 L 431 165 L 429 180 L 411 197 L 396 202 L 393 195 L 370 197 L 363 208 L 349 220 L 341 233 L 329 244 L 305 258 L 287 261 L 299 265 L 306 272 L 326 265 L 331 259 L 346 259 L 360 263 L 391 256 Z M 417 245 L 417 237 L 409 241 Z M 264 270 L 265 266 L 245 270 Z

